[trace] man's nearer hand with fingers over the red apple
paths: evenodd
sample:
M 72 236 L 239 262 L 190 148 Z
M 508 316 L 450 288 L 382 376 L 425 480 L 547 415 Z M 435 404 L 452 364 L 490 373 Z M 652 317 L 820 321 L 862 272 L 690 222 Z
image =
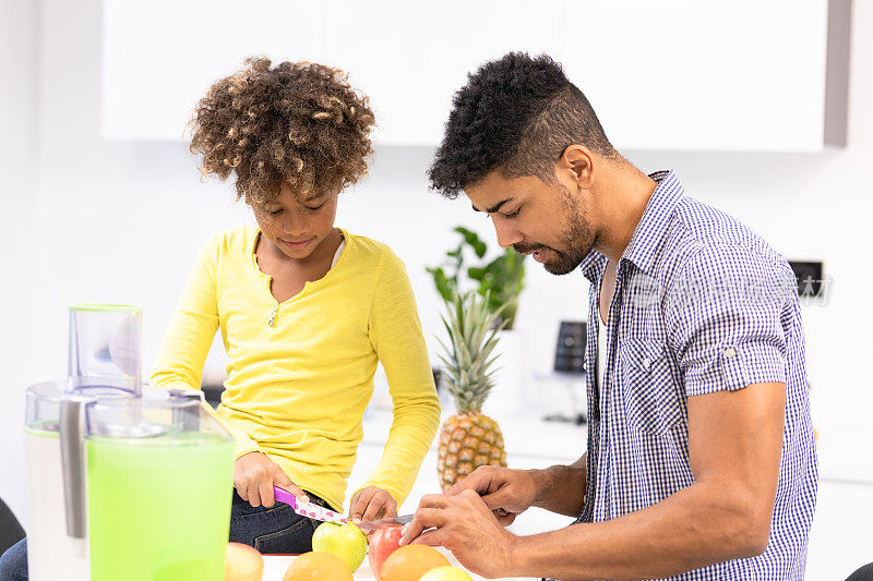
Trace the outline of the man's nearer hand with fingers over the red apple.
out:
M 410 542 L 443 546 L 470 571 L 495 578 L 510 570 L 516 538 L 478 494 L 466 489 L 422 497 L 412 522 L 404 529 L 400 546 Z

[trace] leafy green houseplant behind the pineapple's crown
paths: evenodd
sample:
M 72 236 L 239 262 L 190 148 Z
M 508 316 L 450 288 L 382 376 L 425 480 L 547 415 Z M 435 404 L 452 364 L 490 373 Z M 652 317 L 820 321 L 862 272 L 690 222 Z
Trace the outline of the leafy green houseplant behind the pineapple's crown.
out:
M 488 311 L 498 315 L 497 323 L 506 330 L 512 329 L 518 311 L 518 294 L 524 289 L 525 257 L 506 249 L 495 258 L 486 261 L 488 245 L 476 232 L 462 226 L 453 230 L 461 234 L 461 242 L 445 253 L 442 265 L 427 269 L 436 291 L 452 304 L 458 294 L 473 287 L 486 299 Z M 468 263 L 469 254 L 476 262 Z

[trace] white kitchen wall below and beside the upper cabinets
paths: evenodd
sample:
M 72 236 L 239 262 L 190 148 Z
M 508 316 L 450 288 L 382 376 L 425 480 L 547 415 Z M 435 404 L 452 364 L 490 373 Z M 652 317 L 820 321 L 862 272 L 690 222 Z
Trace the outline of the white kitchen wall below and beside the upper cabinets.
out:
M 14 11 L 14 19 L 23 17 L 24 24 L 36 16 L 26 0 L 5 0 L 2 5 L 4 16 L 7 5 L 29 7 L 23 13 Z M 14 26 L 13 37 L 0 37 L 3 48 L 7 43 L 15 47 L 0 57 L 4 86 L 7 69 L 13 65 L 21 70 L 9 74 L 32 74 L 17 57 L 21 46 L 38 46 L 39 53 L 38 90 L 13 97 L 17 109 L 31 116 L 16 128 L 23 143 L 28 143 L 33 126 L 38 128 L 36 160 L 27 148 L 15 149 L 13 159 L 23 156 L 16 166 L 25 168 L 38 164 L 39 183 L 34 192 L 28 181 L 13 189 L 7 189 L 7 181 L 4 202 L 17 214 L 0 214 L 4 241 L 10 241 L 0 252 L 4 266 L 12 262 L 7 271 L 13 275 L 11 288 L 17 289 L 0 286 L 0 299 L 5 299 L 3 304 L 14 296 L 25 300 L 22 307 L 4 313 L 5 320 L 26 326 L 26 340 L 19 339 L 21 329 L 3 334 L 5 373 L 0 382 L 0 496 L 19 513 L 24 506 L 17 445 L 21 394 L 25 382 L 63 375 L 65 305 L 79 300 L 142 304 L 147 367 L 200 244 L 213 230 L 250 219 L 246 208 L 232 202 L 229 185 L 199 181 L 194 160 L 183 147 L 98 137 L 100 11 L 99 0 L 44 0 L 38 45 L 28 45 L 36 36 L 27 26 Z M 825 262 L 835 279 L 830 303 L 805 312 L 814 417 L 823 472 L 829 471 L 823 475 L 871 480 L 873 468 L 866 459 L 873 444 L 873 396 L 865 364 L 873 315 L 863 299 L 873 286 L 865 252 L 873 215 L 873 178 L 866 169 L 873 154 L 873 116 L 868 111 L 873 102 L 872 22 L 873 5 L 857 3 L 846 149 L 821 155 L 626 153 L 646 170 L 677 168 L 691 192 L 743 219 L 786 256 Z M 152 86 L 159 90 L 159 80 Z M 34 97 L 39 104 L 36 122 L 29 109 Z M 669 120 L 663 122 L 669 131 Z M 439 262 L 455 242 L 450 228 L 456 223 L 476 227 L 493 241 L 490 223 L 473 215 L 466 203 L 443 201 L 427 191 L 430 156 L 426 148 L 380 149 L 370 179 L 344 197 L 338 220 L 349 230 L 387 242 L 406 261 L 428 338 L 439 328 L 439 313 L 423 266 Z M 15 240 L 19 243 L 12 245 Z M 530 356 L 535 368 L 542 370 L 551 364 L 558 322 L 585 317 L 587 285 L 581 275 L 557 278 L 531 263 L 527 286 L 519 327 L 529 330 Z M 830 451 L 840 446 L 857 456 L 847 460 Z

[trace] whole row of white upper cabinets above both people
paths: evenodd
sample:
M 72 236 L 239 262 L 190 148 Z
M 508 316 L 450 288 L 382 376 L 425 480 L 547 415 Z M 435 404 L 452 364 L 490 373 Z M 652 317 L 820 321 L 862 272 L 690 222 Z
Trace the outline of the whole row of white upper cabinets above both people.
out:
M 383 145 L 439 144 L 467 73 L 509 50 L 562 62 L 620 149 L 818 150 L 828 88 L 845 104 L 845 78 L 826 76 L 828 0 L 104 0 L 104 12 L 110 138 L 178 140 L 210 84 L 259 53 L 349 71 Z

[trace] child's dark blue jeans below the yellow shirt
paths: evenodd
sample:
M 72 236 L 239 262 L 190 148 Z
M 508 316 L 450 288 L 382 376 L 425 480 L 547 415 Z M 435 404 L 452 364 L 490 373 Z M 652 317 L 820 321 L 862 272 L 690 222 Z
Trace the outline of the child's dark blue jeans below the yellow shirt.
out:
M 312 493 L 309 499 L 333 509 Z M 312 550 L 312 533 L 320 523 L 301 517 L 288 505 L 253 507 L 234 491 L 230 507 L 230 541 L 253 546 L 261 553 L 307 553 Z M 26 538 L 12 545 L 0 557 L 0 581 L 27 581 Z

